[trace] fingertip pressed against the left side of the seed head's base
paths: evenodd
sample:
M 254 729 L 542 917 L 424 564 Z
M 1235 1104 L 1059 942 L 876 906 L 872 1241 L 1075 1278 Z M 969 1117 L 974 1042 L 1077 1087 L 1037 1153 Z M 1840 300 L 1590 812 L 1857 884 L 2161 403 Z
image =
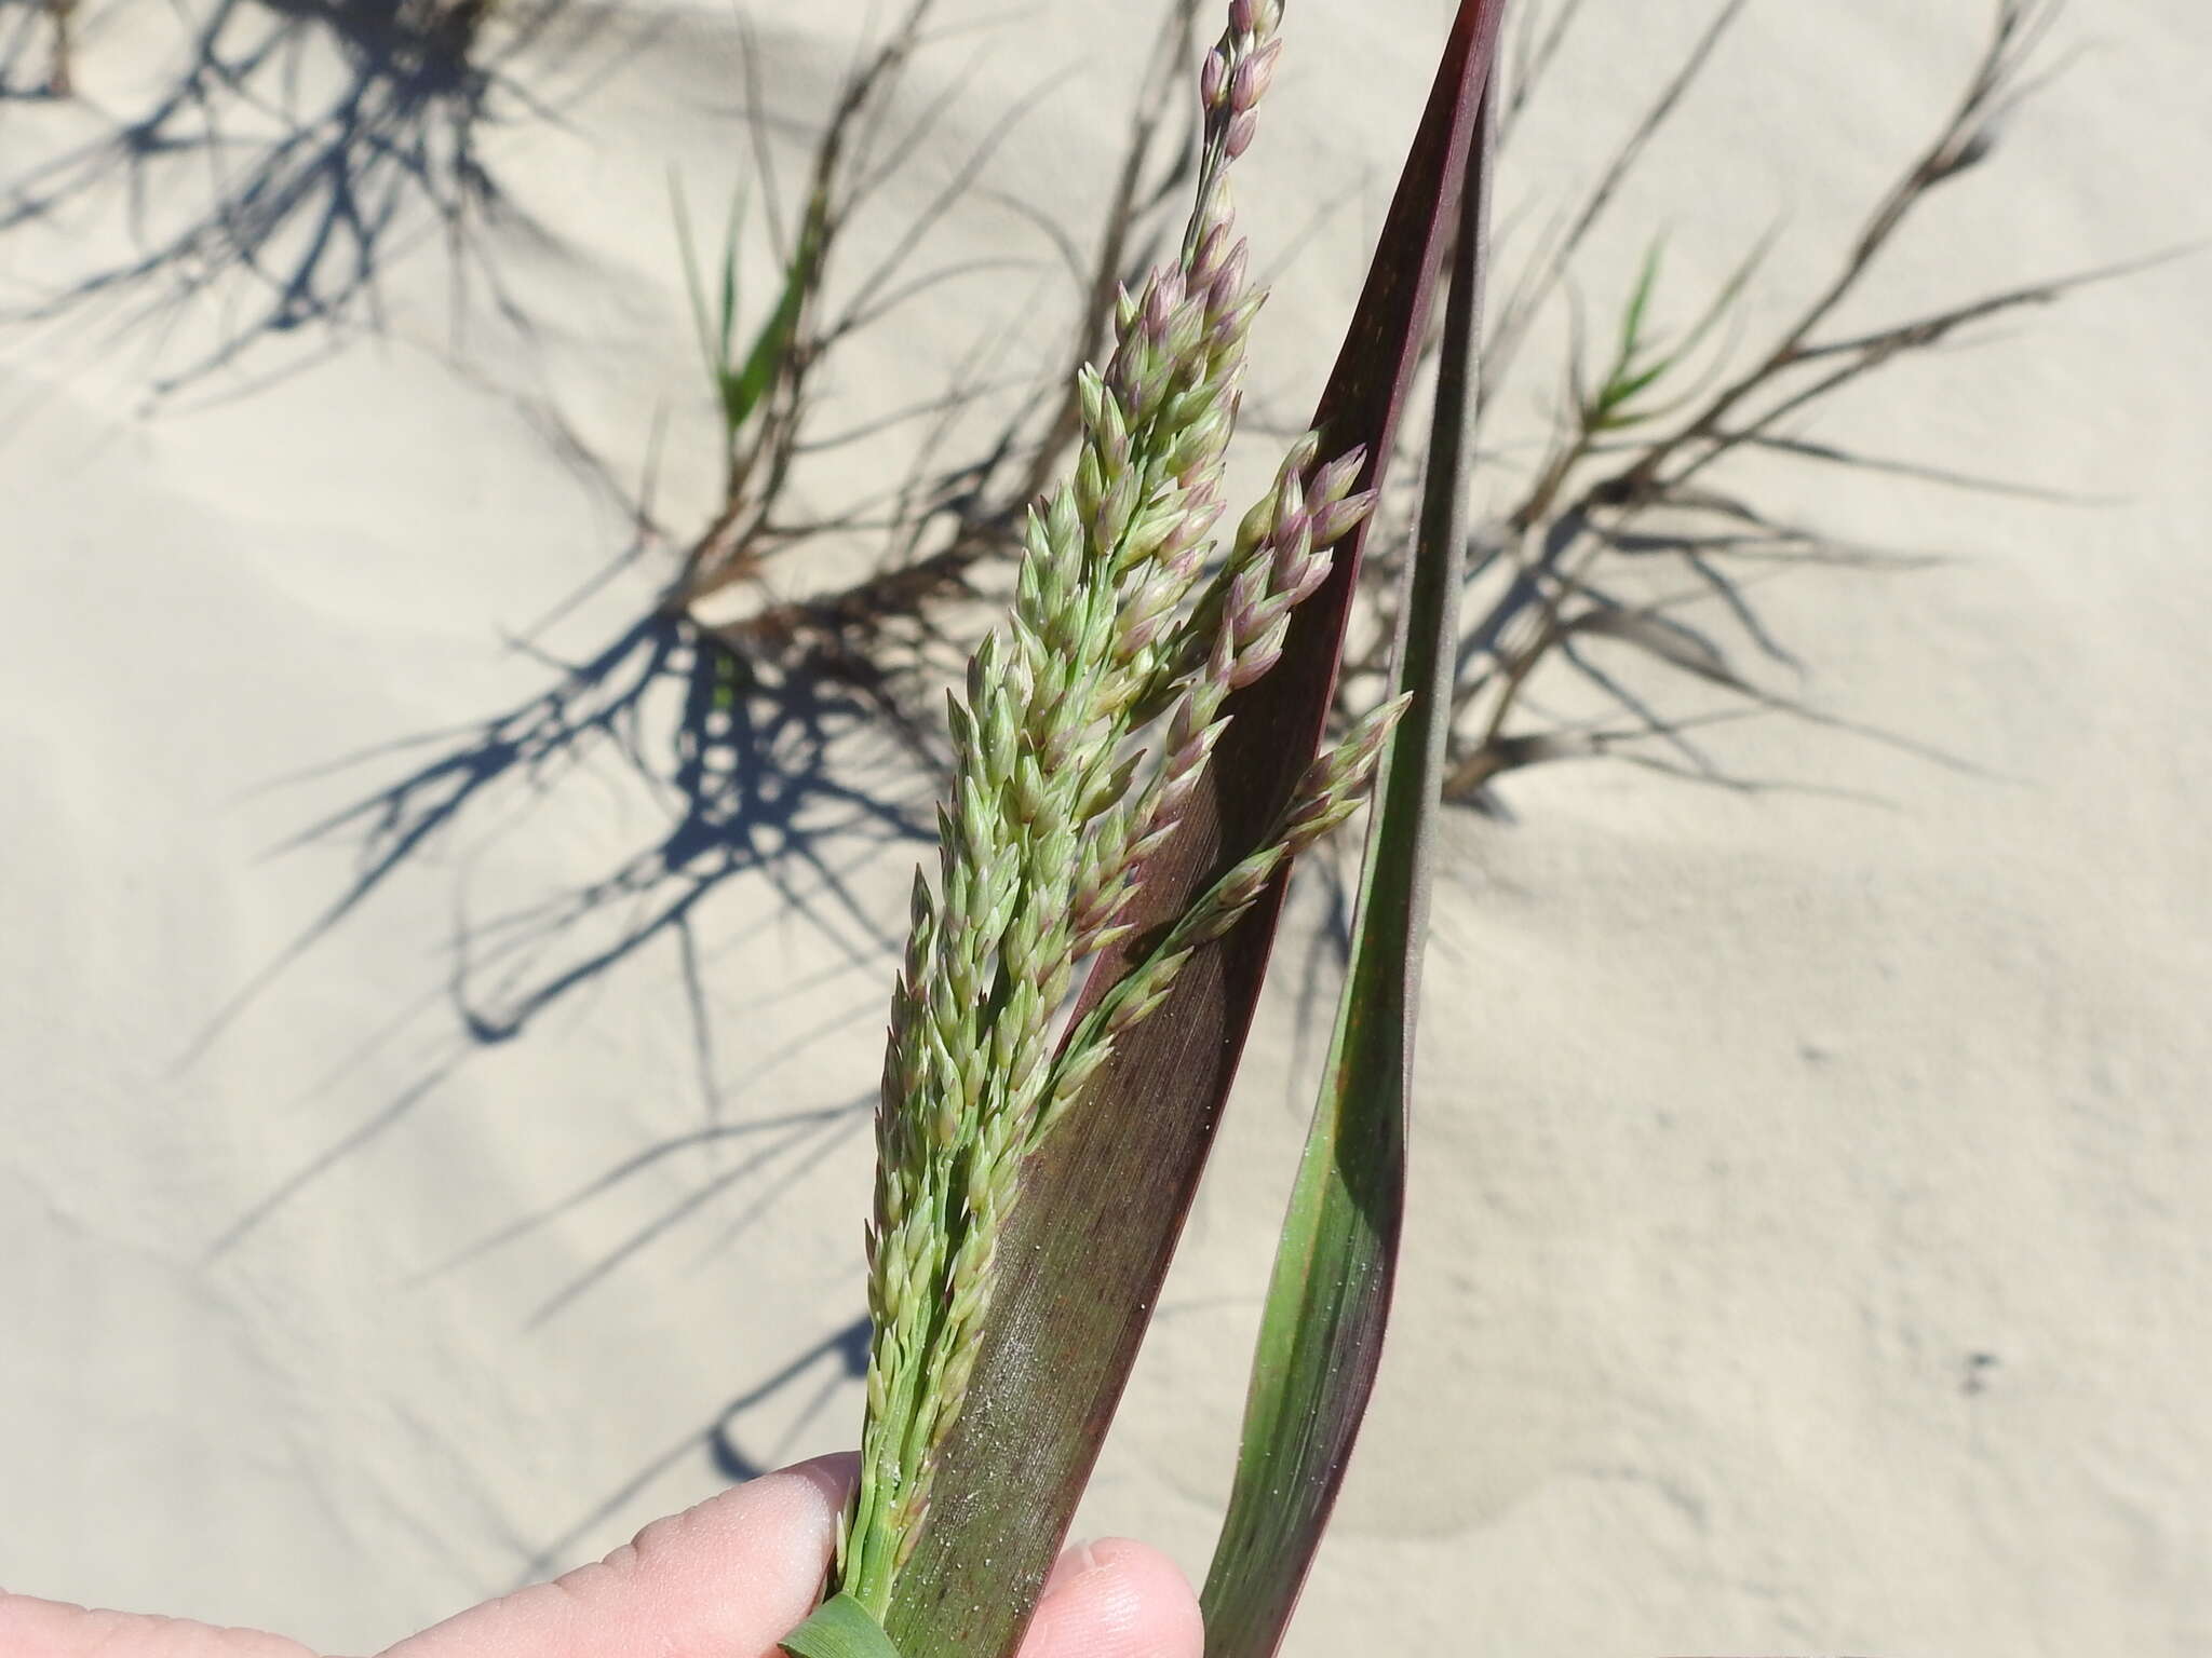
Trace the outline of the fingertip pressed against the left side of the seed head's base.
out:
M 385 1658 L 776 1658 L 821 1594 L 856 1461 L 821 1457 L 726 1490 Z

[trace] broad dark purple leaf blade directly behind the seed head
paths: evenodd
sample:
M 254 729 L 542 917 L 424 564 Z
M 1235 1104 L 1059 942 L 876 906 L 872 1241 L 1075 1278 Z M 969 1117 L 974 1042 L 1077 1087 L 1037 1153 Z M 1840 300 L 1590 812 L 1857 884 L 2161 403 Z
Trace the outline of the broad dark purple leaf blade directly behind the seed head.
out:
M 1325 455 L 1367 449 L 1360 486 L 1380 484 L 1420 363 L 1500 15 L 1502 0 L 1460 4 L 1314 420 Z M 1146 862 L 1141 926 L 1183 913 L 1272 833 L 1321 747 L 1365 537 L 1367 526 L 1336 548 L 1325 586 L 1292 612 L 1281 663 L 1228 701 L 1203 787 L 1177 838 Z M 905 1658 L 1006 1658 L 1020 1645 L 1190 1211 L 1281 900 L 1276 878 L 1239 926 L 1199 946 L 1022 1169 L 967 1406 L 885 1618 Z M 1084 1006 L 1126 968 L 1104 957 Z

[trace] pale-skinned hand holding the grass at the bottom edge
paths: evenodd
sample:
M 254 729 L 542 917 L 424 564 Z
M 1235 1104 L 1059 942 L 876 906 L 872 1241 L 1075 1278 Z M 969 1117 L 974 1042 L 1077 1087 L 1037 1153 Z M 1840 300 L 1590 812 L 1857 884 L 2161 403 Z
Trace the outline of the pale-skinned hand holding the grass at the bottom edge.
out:
M 380 1658 L 781 1658 L 814 1603 L 854 1459 L 765 1475 L 655 1521 L 595 1565 L 469 1607 Z M 1183 1574 L 1152 1547 L 1068 1550 L 1020 1658 L 1199 1658 Z M 314 1658 L 285 1636 L 0 1592 L 7 1658 Z

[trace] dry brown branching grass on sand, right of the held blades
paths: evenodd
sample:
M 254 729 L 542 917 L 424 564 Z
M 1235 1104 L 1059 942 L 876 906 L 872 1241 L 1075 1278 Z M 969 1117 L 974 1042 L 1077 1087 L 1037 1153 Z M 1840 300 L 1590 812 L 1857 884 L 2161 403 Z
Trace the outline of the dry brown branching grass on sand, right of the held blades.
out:
M 1717 11 L 1586 195 L 1566 234 L 1537 256 L 1533 274 L 1524 279 L 1500 323 L 1495 347 L 1504 354 L 1517 349 L 1535 309 L 1559 290 L 1590 225 L 1613 206 L 1644 146 L 1679 108 L 1741 9 L 1743 0 L 1728 0 Z M 1562 7 L 1542 46 L 1524 55 L 1531 75 L 1540 75 L 1557 51 L 1557 31 L 1575 11 L 1575 4 Z M 1745 256 L 1703 318 L 1672 343 L 1652 338 L 1648 307 L 1657 256 L 1646 265 L 1628 303 L 1613 360 L 1595 376 L 1595 385 L 1584 387 L 1577 374 L 1577 391 L 1551 453 L 1486 535 L 1486 568 L 1500 581 L 1500 590 L 1486 608 L 1473 612 L 1462 646 L 1458 701 L 1473 727 L 1455 734 L 1447 798 L 1489 802 L 1489 785 L 1500 774 L 1575 756 L 1621 756 L 1730 787 L 1759 787 L 1719 772 L 1688 732 L 1694 725 L 1763 710 L 1818 718 L 1792 699 L 1759 690 L 1730 663 L 1717 639 L 1677 612 L 1699 601 L 1719 601 L 1759 650 L 1787 663 L 1792 661 L 1787 650 L 1772 639 L 1747 599 L 1745 588 L 1752 579 L 1809 564 L 1896 568 L 1916 559 L 1843 546 L 1809 528 L 1770 520 L 1756 506 L 1712 486 L 1714 469 L 1730 455 L 1763 449 L 1933 482 L 2011 489 L 1933 466 L 1885 462 L 1807 442 L 1792 433 L 1792 422 L 1856 380 L 1909 354 L 1938 347 L 1973 323 L 2053 303 L 2088 283 L 2139 267 L 2077 272 L 1982 294 L 1871 332 L 1825 334 L 1927 199 L 1991 155 L 1997 122 L 2035 86 L 2031 64 L 2057 13 L 2059 0 L 1997 0 L 1989 40 L 1936 137 L 1882 192 L 1829 281 L 1747 369 L 1717 387 L 1699 389 L 1694 382 L 1710 369 L 1690 369 L 1690 363 L 1714 325 L 1734 314 L 1763 248 Z M 1515 106 L 1526 95 L 1524 84 L 1515 93 Z M 1500 349 L 1493 349 L 1491 367 L 1498 365 L 1498 356 Z M 1677 382 L 1692 385 L 1681 391 Z M 1686 531 L 1683 524 L 1699 528 Z M 1650 568 L 1655 555 L 1681 564 L 1688 577 L 1681 590 L 1655 601 L 1628 601 L 1608 590 L 1608 573 L 1615 566 L 1641 562 Z M 1668 718 L 1582 654 L 1579 646 L 1590 639 L 1626 643 L 1697 683 L 1719 685 L 1741 699 L 1741 714 Z M 1553 661 L 1568 663 L 1617 696 L 1628 723 L 1573 727 L 1540 723 L 1535 730 L 1517 730 L 1515 718 L 1528 685 Z M 1652 741 L 1672 747 L 1677 760 L 1648 754 Z

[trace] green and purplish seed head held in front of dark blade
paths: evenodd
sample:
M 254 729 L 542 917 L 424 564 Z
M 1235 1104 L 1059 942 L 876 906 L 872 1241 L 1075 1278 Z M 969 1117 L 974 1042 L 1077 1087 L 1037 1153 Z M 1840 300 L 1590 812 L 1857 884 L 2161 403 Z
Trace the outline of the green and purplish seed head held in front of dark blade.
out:
M 1192 948 L 1349 816 L 1396 716 L 1380 710 L 1321 756 L 1270 842 L 1060 1030 L 1077 966 L 1130 937 L 1146 860 L 1194 798 L 1223 701 L 1274 668 L 1292 608 L 1329 573 L 1329 546 L 1374 506 L 1354 491 L 1363 455 L 1323 462 L 1310 436 L 1214 559 L 1261 305 L 1221 175 L 1250 144 L 1279 22 L 1281 0 L 1230 4 L 1201 77 L 1206 148 L 1183 254 L 1121 296 L 1106 369 L 1082 371 L 1073 478 L 1031 513 L 1013 615 L 951 699 L 938 886 L 916 875 L 891 999 L 867 1227 L 867 1424 L 838 1550 L 838 1587 L 878 1620 L 967 1399 L 1022 1161 Z

